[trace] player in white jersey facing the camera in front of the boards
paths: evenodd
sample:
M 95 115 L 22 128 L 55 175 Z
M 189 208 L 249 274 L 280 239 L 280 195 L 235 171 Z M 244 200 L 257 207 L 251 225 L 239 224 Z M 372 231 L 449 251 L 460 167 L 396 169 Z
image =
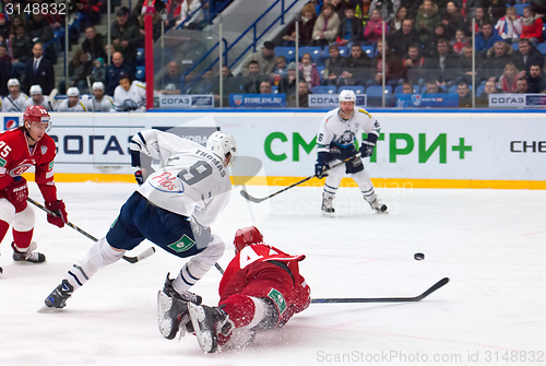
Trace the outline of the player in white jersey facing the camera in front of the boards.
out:
M 359 130 L 368 133 L 367 140 L 360 145 L 360 156 L 368 157 L 379 138 L 381 127 L 376 118 L 367 110 L 355 106 L 356 95 L 353 91 L 340 93 L 340 107 L 330 110 L 322 120 L 317 135 L 318 157 L 314 165 L 314 175 L 318 178 L 327 177 L 322 192 L 322 213 L 334 213 L 333 199 L 340 187 L 343 170 L 358 185 L 364 199 L 378 213 L 385 213 L 387 205 L 377 197 L 369 174 L 364 169 L 361 158 L 353 158 L 325 172 L 329 164 L 343 161 L 357 154 L 355 138 Z

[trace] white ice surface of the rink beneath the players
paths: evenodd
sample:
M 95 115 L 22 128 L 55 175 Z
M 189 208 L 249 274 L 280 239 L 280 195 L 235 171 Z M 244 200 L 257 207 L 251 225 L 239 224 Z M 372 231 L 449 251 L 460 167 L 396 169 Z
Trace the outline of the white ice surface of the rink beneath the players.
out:
M 134 189 L 58 184 L 69 220 L 96 237 Z M 0 246 L 0 365 L 546 364 L 546 191 L 379 188 L 391 213 L 378 215 L 356 188 L 341 188 L 337 215 L 323 217 L 319 187 L 260 204 L 240 189 L 213 226 L 226 241 L 224 268 L 235 231 L 256 225 L 266 243 L 307 255 L 300 272 L 316 298 L 416 296 L 451 281 L 419 303 L 311 304 L 244 351 L 204 354 L 193 335 L 168 341 L 157 329 L 157 291 L 185 263 L 162 249 L 100 270 L 63 310 L 38 314 L 93 241 L 47 224 L 36 209 L 35 240 L 47 262 L 14 263 L 11 234 Z M 247 189 L 264 197 L 280 188 Z M 34 182 L 29 191 L 43 201 Z M 204 304 L 217 303 L 219 280 L 213 268 L 193 287 Z

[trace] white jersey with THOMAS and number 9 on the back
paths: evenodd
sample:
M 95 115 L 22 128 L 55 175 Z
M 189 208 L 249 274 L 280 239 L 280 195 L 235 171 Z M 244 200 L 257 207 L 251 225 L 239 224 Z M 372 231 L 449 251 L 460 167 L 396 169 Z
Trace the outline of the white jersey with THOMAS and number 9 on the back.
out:
M 133 138 L 130 149 L 159 160 L 159 169 L 138 189 L 153 204 L 210 226 L 229 202 L 229 174 L 202 145 L 147 130 Z

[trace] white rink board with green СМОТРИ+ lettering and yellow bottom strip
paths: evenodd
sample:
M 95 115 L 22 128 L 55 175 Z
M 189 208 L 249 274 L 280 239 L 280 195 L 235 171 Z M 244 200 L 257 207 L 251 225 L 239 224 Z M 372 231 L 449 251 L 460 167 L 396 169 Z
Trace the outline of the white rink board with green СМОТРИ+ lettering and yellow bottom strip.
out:
M 2 116 L 4 126 L 19 117 Z M 544 114 L 373 116 L 381 123 L 381 137 L 365 166 L 378 186 L 546 189 L 546 172 L 541 168 L 546 153 Z M 323 117 L 324 113 L 52 114 L 56 180 L 132 181 L 130 137 L 143 129 L 182 126 L 178 131 L 198 142 L 219 127 L 236 138 L 239 156 L 261 162 L 261 178 L 249 180 L 256 172 L 236 170 L 235 184 L 287 186 L 313 174 L 316 135 Z M 195 125 L 205 128 L 185 134 L 185 128 Z

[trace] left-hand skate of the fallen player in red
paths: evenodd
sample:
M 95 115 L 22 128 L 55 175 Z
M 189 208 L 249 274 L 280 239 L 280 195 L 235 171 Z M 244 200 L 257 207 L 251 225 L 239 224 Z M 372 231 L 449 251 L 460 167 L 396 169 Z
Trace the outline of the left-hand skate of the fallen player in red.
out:
M 188 291 L 179 294 L 173 287 L 174 280 L 169 279 L 169 275 L 170 273 L 167 273 L 163 291 L 157 293 L 157 320 L 163 337 L 173 340 L 178 330 L 181 330 L 180 337 L 183 337 L 186 331 L 193 332 L 188 312 L 188 303 L 200 305 L 202 298 Z

